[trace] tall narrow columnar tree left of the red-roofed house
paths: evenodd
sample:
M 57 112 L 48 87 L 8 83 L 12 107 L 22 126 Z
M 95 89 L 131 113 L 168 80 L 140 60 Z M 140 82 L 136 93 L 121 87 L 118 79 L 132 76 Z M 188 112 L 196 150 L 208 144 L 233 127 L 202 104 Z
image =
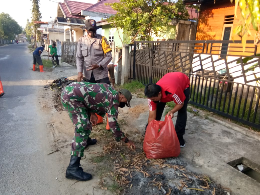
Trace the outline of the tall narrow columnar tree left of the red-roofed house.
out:
M 37 41 L 41 41 L 41 31 L 37 30 L 40 28 L 40 24 L 35 24 L 34 21 L 41 21 L 42 14 L 39 10 L 40 6 L 40 0 L 30 0 L 33 3 L 33 8 L 32 10 L 32 21 L 31 21 L 31 26 L 33 27 L 33 34 L 37 38 Z M 35 38 L 35 46 L 36 46 L 36 38 Z

